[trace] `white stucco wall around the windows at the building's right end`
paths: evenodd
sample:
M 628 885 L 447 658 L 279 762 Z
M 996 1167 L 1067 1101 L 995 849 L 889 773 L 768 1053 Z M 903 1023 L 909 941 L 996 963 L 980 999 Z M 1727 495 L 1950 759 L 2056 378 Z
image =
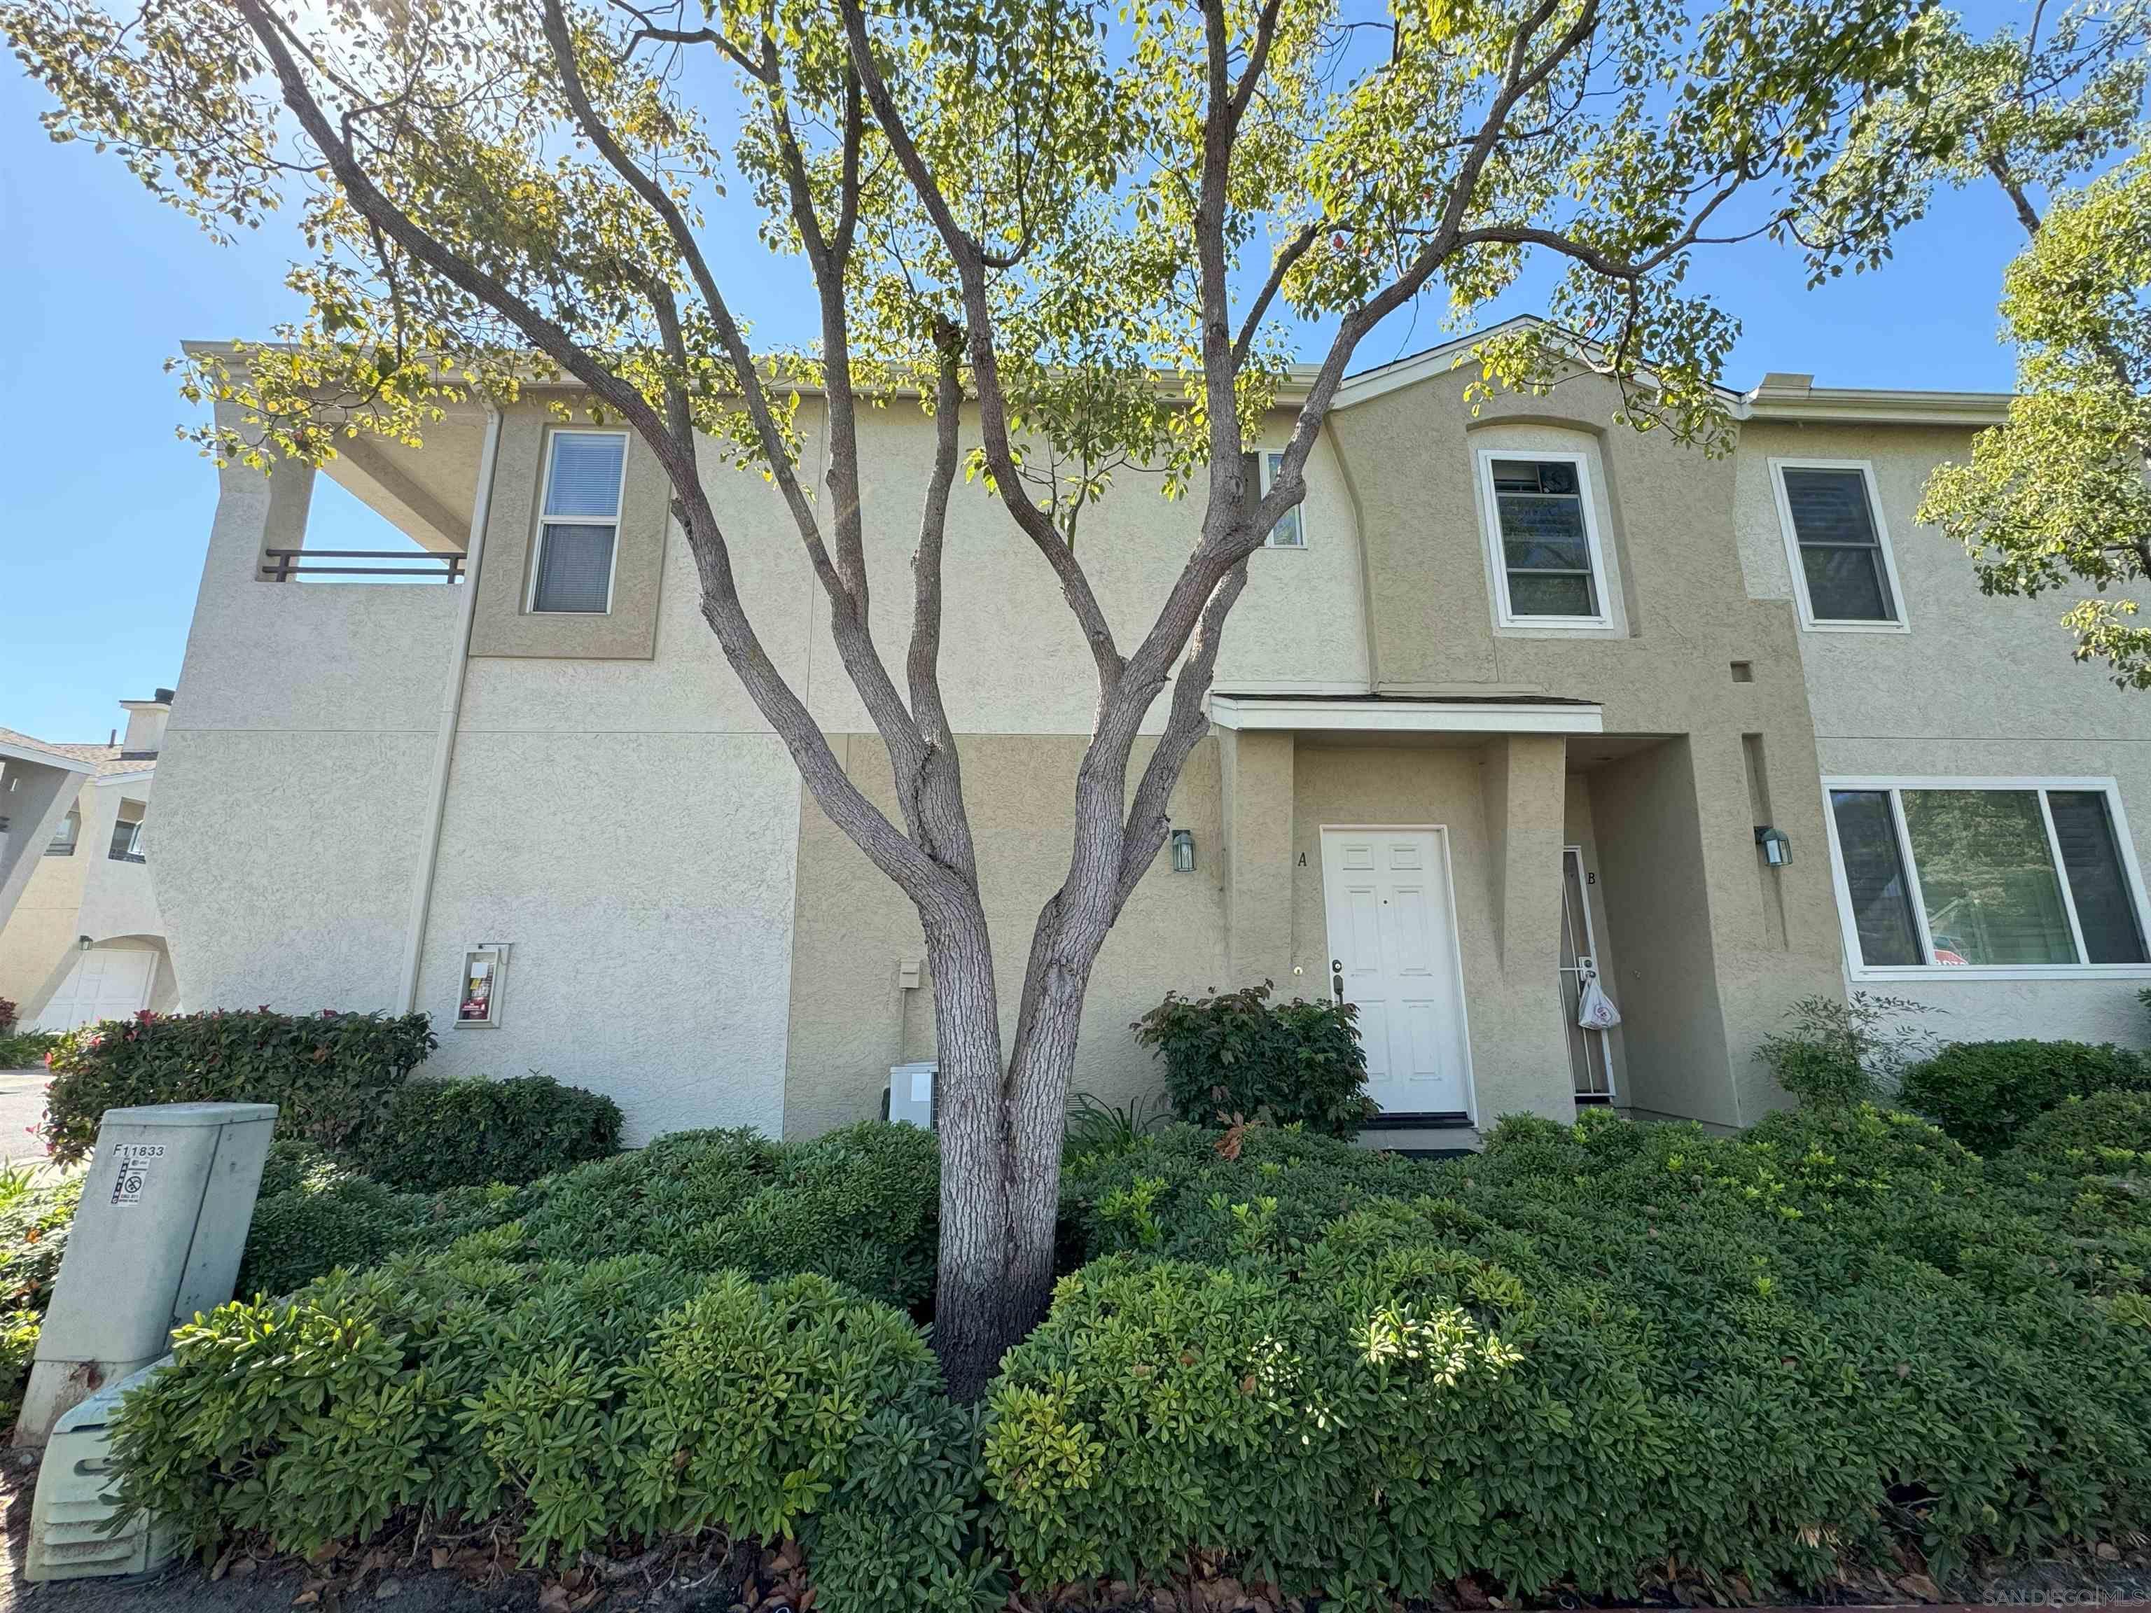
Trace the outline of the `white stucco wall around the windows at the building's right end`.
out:
M 1908 632 L 1800 632 L 1822 776 L 2114 779 L 2138 862 L 2151 858 L 2151 703 L 2069 658 L 2056 622 L 2078 598 L 1988 598 L 1970 559 L 1914 523 L 1927 473 L 1970 452 L 1962 428 L 1751 422 L 1736 456 L 1736 529 L 1755 598 L 1792 598 L 1770 458 L 1865 460 Z M 1815 783 L 1820 800 L 1822 785 Z M 1826 841 L 1815 860 L 1828 865 Z M 1835 897 L 1833 897 L 1835 916 Z M 2151 976 L 2151 970 L 2147 970 Z M 1865 989 L 1934 1009 L 1951 1041 L 2076 1037 L 2151 1043 L 2145 981 L 1981 981 L 1938 972 Z M 1848 985 L 1863 985 L 1850 979 Z

